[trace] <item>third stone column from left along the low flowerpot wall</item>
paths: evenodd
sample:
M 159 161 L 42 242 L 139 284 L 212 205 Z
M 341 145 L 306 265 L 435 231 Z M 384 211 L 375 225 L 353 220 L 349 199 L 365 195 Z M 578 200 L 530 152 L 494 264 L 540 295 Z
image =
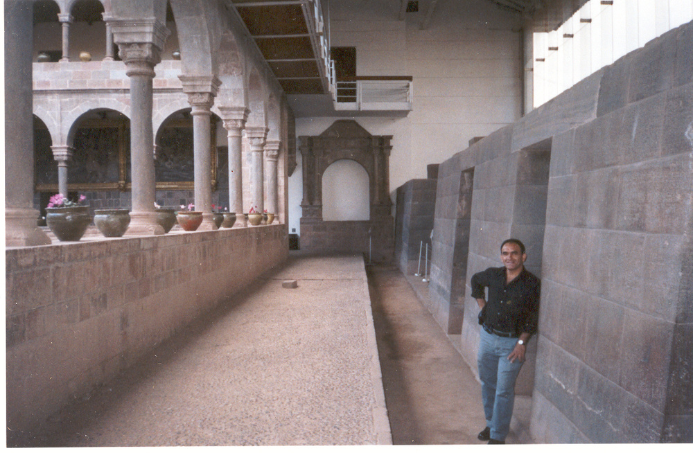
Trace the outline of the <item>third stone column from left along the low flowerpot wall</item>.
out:
M 195 170 L 195 211 L 202 211 L 198 231 L 216 230 L 212 215 L 211 107 L 220 81 L 212 76 L 179 75 L 188 103 L 193 108 L 193 165 Z

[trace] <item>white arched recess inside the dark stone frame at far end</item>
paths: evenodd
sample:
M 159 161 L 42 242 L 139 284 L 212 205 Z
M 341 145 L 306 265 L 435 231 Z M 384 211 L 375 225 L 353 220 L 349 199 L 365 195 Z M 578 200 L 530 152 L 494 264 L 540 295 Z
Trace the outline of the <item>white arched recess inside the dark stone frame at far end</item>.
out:
M 370 186 L 370 175 L 360 162 L 339 159 L 331 163 L 322 173 L 323 220 L 370 220 Z

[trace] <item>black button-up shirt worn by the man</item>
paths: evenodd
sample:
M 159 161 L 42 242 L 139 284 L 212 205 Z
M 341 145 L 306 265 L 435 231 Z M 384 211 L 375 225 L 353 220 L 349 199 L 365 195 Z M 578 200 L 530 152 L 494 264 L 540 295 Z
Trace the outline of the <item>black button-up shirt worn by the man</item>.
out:
M 495 330 L 514 332 L 516 336 L 522 332 L 534 335 L 539 318 L 539 279 L 523 269 L 506 285 L 505 273 L 505 267 L 489 267 L 472 276 L 474 299 L 486 299 L 485 288 L 489 287 L 489 299 L 480 319 Z

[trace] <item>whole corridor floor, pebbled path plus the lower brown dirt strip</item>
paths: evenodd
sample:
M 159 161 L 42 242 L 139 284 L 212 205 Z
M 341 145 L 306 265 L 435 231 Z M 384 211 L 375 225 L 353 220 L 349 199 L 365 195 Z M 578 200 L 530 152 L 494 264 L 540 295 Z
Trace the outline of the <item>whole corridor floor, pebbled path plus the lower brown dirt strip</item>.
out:
M 468 366 L 395 267 L 367 272 L 360 256 L 292 254 L 8 446 L 479 444 Z

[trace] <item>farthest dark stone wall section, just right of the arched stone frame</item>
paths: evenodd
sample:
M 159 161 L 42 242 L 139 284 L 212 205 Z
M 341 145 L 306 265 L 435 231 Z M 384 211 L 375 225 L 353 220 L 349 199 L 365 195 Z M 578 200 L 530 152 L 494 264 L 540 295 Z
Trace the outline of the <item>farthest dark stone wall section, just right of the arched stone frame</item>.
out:
M 425 272 L 427 244 L 430 262 L 436 184 L 435 179 L 412 179 L 397 188 L 394 258 L 403 274 Z

